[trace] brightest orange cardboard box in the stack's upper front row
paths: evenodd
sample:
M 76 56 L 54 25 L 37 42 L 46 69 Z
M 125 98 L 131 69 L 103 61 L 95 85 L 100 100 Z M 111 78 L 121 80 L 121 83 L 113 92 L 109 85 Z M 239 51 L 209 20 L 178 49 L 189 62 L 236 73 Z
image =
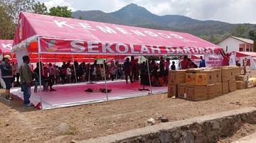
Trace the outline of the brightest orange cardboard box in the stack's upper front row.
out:
M 189 85 L 207 85 L 207 74 L 186 74 L 186 84 Z

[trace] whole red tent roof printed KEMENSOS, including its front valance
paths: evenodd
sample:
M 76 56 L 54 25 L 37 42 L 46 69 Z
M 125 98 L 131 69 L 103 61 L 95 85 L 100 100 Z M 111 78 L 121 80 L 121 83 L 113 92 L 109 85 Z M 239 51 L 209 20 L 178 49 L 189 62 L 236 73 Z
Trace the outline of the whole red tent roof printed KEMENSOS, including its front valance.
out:
M 38 40 L 40 40 L 38 42 Z M 38 43 L 40 44 L 38 46 Z M 61 55 L 218 55 L 222 47 L 188 33 L 20 13 L 16 50 Z

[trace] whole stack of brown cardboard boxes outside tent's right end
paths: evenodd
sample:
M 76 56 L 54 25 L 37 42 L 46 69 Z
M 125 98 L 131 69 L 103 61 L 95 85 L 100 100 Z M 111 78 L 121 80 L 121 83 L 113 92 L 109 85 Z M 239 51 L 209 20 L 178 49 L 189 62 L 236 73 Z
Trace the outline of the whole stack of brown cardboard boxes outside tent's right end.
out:
M 250 88 L 253 81 L 248 81 L 247 72 L 245 67 L 169 71 L 168 97 L 205 101 L 237 89 Z

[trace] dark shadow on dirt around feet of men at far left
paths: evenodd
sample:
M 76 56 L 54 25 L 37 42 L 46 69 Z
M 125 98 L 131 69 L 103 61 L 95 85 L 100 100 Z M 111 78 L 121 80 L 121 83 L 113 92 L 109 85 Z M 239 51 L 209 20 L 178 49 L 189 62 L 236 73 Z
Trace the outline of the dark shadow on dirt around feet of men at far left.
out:
M 23 100 L 21 98 L 19 98 L 18 96 L 15 96 L 14 94 L 11 94 L 11 97 L 13 98 L 12 101 L 6 101 L 5 100 L 5 94 L 4 94 L 4 89 L 0 89 L 1 91 L 1 95 L 0 95 L 0 104 L 2 103 L 2 105 L 6 105 L 7 108 L 10 108 L 11 110 L 14 109 L 20 113 L 23 112 L 30 112 L 30 111 L 35 111 L 38 110 L 37 108 L 34 107 L 25 107 L 23 106 Z M 1 105 L 0 105 L 1 107 Z

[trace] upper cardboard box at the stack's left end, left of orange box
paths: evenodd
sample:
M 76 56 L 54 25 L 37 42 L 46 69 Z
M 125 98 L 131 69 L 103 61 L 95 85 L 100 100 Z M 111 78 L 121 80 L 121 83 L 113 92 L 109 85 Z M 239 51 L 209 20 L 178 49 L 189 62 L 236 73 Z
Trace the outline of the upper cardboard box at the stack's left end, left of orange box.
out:
M 185 84 L 186 70 L 169 71 L 169 84 Z

